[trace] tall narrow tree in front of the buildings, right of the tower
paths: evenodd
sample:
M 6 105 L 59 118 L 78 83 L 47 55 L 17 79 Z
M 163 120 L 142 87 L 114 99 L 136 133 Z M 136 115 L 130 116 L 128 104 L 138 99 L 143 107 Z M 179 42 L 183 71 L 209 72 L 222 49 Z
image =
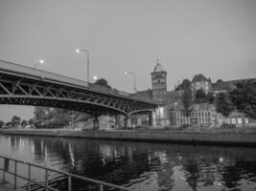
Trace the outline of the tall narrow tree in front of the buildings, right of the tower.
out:
M 188 79 L 184 79 L 182 82 L 182 104 L 183 104 L 183 112 L 186 117 L 189 117 L 192 112 L 192 92 L 190 87 L 190 82 Z

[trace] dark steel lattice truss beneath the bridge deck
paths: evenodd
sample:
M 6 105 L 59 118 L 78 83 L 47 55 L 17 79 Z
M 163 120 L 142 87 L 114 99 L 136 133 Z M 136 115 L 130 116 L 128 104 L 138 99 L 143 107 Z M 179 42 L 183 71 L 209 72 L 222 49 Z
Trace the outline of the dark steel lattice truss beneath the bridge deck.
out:
M 149 110 L 147 101 L 20 74 L 1 73 L 0 104 L 49 106 L 84 112 L 92 116 L 124 114 Z

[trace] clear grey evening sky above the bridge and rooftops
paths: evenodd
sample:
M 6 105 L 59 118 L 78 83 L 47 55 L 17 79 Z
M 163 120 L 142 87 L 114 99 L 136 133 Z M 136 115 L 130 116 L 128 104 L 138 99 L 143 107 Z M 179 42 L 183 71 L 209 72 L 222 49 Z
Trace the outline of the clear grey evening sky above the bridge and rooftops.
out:
M 204 74 L 212 81 L 256 77 L 255 0 L 0 0 L 0 59 L 112 87 L 151 88 L 157 57 L 168 90 Z M 91 78 L 91 80 L 93 80 Z M 33 107 L 0 105 L 0 120 Z

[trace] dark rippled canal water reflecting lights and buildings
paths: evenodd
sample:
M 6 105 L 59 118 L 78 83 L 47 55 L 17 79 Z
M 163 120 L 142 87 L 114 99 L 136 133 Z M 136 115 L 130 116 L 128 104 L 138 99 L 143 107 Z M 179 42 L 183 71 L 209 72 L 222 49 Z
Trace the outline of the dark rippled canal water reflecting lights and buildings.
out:
M 1 155 L 134 190 L 256 189 L 254 148 L 3 135 L 0 143 Z M 43 179 L 36 172 L 35 177 Z M 75 190 L 87 186 L 80 181 L 73 184 Z M 65 185 L 64 180 L 58 180 L 62 190 Z

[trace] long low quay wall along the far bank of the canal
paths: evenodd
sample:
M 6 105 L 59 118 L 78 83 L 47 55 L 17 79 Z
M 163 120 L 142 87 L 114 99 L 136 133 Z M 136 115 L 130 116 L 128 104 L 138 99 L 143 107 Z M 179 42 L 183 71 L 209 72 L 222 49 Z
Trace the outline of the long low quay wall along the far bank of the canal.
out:
M 156 130 L 66 130 L 1 129 L 0 133 L 18 136 L 95 138 L 184 144 L 256 146 L 255 130 L 156 131 Z

